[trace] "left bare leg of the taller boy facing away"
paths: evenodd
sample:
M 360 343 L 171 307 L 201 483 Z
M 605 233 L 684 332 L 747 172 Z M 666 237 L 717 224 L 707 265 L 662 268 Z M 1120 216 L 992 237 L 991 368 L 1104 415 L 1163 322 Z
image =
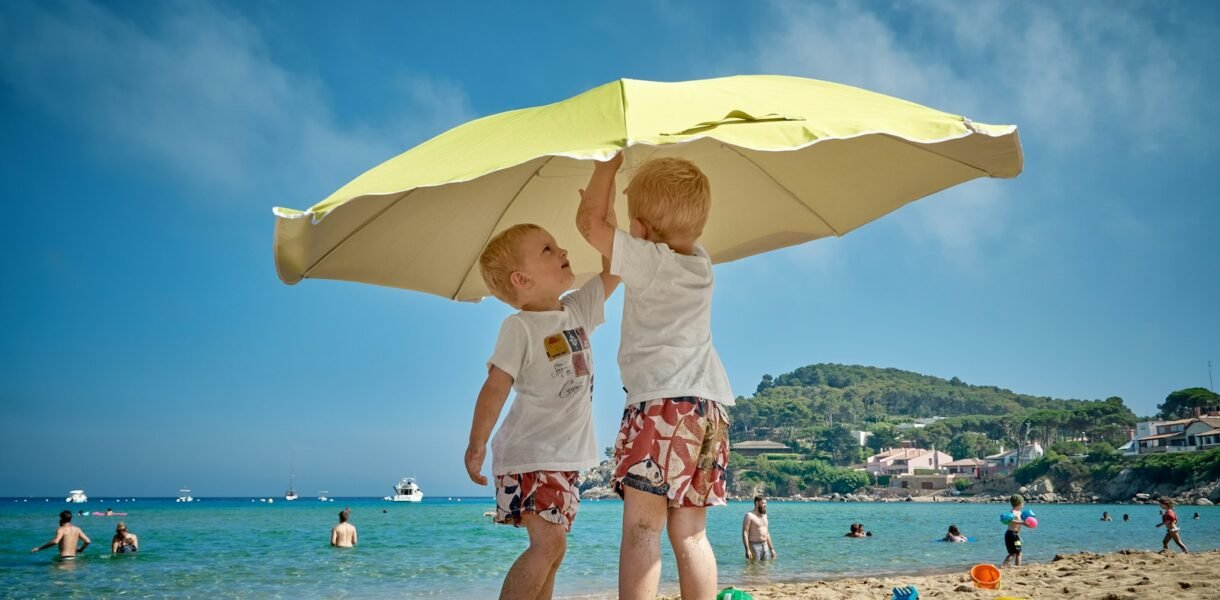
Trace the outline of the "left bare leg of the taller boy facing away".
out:
M 619 599 L 654 600 L 661 583 L 661 529 L 665 496 L 623 487 L 622 544 L 619 546 Z

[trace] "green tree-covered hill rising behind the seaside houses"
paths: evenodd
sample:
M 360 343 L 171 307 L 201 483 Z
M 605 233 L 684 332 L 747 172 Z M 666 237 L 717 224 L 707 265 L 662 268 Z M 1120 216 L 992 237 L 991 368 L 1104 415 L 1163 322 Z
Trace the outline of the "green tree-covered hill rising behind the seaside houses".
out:
M 730 415 L 736 440 L 767 438 L 837 455 L 841 446 L 847 450 L 849 429 L 864 429 L 874 433 L 875 448 L 899 439 L 938 448 L 952 441 L 955 457 L 982 456 L 1019 440 L 1047 446 L 1077 439 L 1121 444 L 1136 422 L 1120 398 L 1061 400 L 970 385 L 956 377 L 825 363 L 764 376 L 755 394 L 739 398 Z M 894 429 L 921 417 L 947 418 L 919 429 Z

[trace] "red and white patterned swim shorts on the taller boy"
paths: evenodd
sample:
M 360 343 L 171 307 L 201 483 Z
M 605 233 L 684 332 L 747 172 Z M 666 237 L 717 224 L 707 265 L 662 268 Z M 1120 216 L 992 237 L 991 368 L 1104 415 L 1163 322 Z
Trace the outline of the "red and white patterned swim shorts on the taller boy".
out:
M 656 494 L 669 506 L 726 504 L 728 418 L 703 398 L 659 398 L 627 406 L 614 446 L 614 487 Z

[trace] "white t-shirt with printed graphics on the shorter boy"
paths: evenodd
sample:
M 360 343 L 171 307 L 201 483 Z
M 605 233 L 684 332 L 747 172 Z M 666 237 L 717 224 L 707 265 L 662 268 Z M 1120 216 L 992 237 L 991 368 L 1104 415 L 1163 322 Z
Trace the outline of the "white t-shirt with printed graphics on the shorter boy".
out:
M 512 376 L 517 394 L 492 438 L 492 474 L 580 471 L 599 462 L 589 334 L 605 321 L 601 277 L 560 302 L 562 310 L 516 312 L 500 326 L 487 363 Z

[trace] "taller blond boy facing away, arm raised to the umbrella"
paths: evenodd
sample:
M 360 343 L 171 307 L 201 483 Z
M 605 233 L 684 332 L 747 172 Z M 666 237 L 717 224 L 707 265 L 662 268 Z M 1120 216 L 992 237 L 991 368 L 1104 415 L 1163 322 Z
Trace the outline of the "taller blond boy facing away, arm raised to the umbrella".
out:
M 627 407 L 615 441 L 622 495 L 619 596 L 654 599 L 661 529 L 677 559 L 682 598 L 716 595 L 708 506 L 725 504 L 727 418 L 733 404 L 711 345 L 711 259 L 699 245 L 711 204 L 706 176 L 681 159 L 650 160 L 627 187 L 630 233 L 612 220 L 622 155 L 599 162 L 577 228 L 625 287 L 619 368 Z

